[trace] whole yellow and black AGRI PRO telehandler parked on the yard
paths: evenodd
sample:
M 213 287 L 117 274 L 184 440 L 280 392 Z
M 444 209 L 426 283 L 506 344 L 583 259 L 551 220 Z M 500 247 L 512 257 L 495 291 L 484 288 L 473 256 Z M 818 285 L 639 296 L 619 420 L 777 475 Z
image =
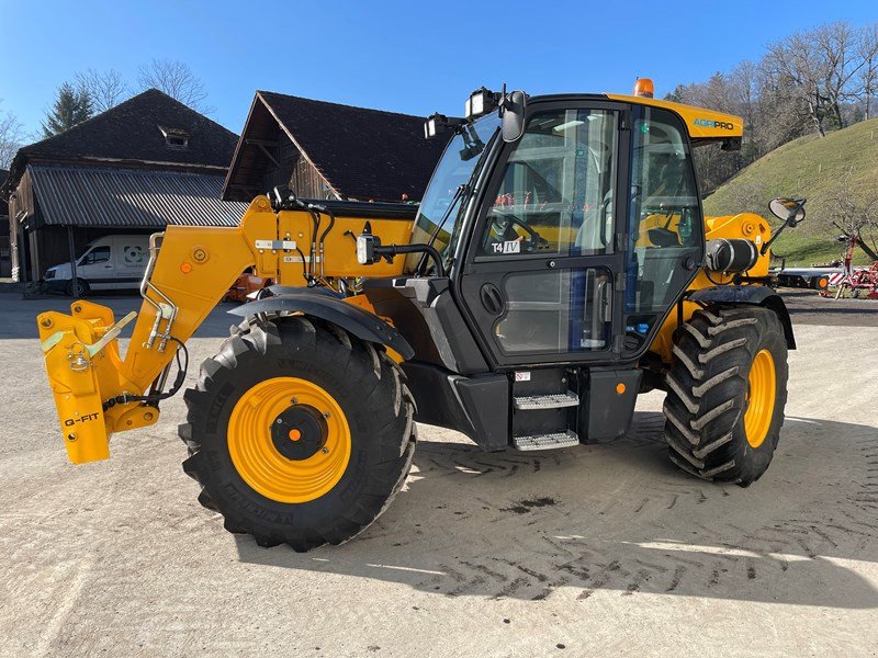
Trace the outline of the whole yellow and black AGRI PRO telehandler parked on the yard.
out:
M 667 392 L 671 460 L 747 486 L 784 422 L 783 299 L 770 245 L 804 216 L 703 217 L 693 148 L 736 148 L 741 118 L 633 95 L 482 88 L 419 206 L 257 196 L 237 228 L 169 226 L 135 314 L 76 300 L 37 324 L 75 463 L 155 423 L 185 343 L 247 268 L 273 279 L 201 365 L 180 438 L 199 500 L 232 532 L 307 551 L 353 537 L 402 487 L 415 422 L 486 451 L 623 435 Z M 171 373 L 176 372 L 170 382 Z

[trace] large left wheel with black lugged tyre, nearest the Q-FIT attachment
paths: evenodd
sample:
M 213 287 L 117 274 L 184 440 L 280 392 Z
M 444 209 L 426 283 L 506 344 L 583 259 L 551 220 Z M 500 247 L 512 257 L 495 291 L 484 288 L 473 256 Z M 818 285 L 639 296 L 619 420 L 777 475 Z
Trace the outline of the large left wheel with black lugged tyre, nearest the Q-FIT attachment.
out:
M 235 418 L 247 409 L 244 404 L 245 412 L 233 417 L 236 405 L 245 399 L 258 411 L 262 408 L 258 395 L 266 385 L 291 378 L 328 394 L 328 404 L 341 411 L 349 430 L 349 458 L 339 466 L 337 477 L 330 478 L 328 490 L 316 488 L 313 496 L 302 489 L 308 475 L 302 476 L 305 485 L 290 485 L 300 477 L 296 473 L 303 462 L 282 455 L 280 451 L 285 449 L 277 439 L 274 444 L 270 440 L 264 451 L 278 452 L 263 456 L 284 469 L 289 491 L 284 491 L 283 477 L 273 478 L 273 467 L 262 470 L 268 475 L 254 475 L 241 466 L 241 457 L 236 461 L 235 456 L 241 454 L 241 449 L 236 449 L 241 424 Z M 404 382 L 402 371 L 382 347 L 359 341 L 334 325 L 305 317 L 241 324 L 219 353 L 202 364 L 196 387 L 185 393 L 188 422 L 180 426 L 179 433 L 190 456 L 183 470 L 201 485 L 199 501 L 225 517 L 226 530 L 249 533 L 260 546 L 286 543 L 304 552 L 346 542 L 386 509 L 410 468 L 416 430 L 414 401 Z M 252 390 L 257 390 L 256 397 Z M 305 407 L 295 397 L 290 399 L 283 413 L 297 413 Z M 320 423 L 319 416 L 314 421 L 306 419 L 305 426 Z M 250 433 L 258 435 L 261 427 L 254 426 Z M 331 434 L 333 426 L 328 427 Z M 260 439 L 243 439 L 244 453 L 257 450 L 255 441 Z M 296 430 L 291 430 L 291 439 L 299 441 Z M 334 450 L 338 445 L 334 444 Z M 316 452 L 314 456 L 318 456 Z M 289 501 L 296 497 L 302 501 Z

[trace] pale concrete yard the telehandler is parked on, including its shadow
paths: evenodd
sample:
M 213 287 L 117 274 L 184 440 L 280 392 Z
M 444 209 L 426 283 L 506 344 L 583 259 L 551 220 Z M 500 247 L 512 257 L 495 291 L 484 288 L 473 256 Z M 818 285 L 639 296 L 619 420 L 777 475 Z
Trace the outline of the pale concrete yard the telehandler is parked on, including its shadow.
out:
M 421 427 L 379 522 L 299 555 L 198 504 L 180 397 L 110 462 L 68 464 L 32 338 L 65 302 L 0 295 L 0 654 L 874 656 L 878 304 L 836 322 L 844 302 L 812 303 L 748 489 L 668 463 L 657 394 L 629 438 L 543 456 Z M 211 316 L 194 363 L 229 324 Z

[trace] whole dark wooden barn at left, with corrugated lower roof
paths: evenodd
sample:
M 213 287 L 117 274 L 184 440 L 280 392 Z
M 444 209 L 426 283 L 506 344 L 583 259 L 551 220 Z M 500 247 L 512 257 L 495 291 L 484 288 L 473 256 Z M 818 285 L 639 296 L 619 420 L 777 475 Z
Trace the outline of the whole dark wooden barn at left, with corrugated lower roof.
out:
M 235 226 L 247 204 L 219 195 L 236 144 L 230 131 L 150 89 L 22 148 L 0 184 L 12 276 L 38 281 L 105 235 Z

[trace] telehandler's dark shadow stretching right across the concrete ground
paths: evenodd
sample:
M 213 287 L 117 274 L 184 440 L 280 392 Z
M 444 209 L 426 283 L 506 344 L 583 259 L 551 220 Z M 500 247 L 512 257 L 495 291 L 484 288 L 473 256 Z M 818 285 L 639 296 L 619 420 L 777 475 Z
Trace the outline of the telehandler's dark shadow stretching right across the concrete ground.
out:
M 611 590 L 878 606 L 878 591 L 846 566 L 878 561 L 878 469 L 866 467 L 878 455 L 874 428 L 788 419 L 772 469 L 743 489 L 671 466 L 662 423 L 661 413 L 638 413 L 615 444 L 537 457 L 424 442 L 406 489 L 356 540 L 296 554 L 235 535 L 239 556 L 444 597 L 582 600 Z M 798 477 L 815 469 L 819 483 Z M 844 487 L 836 476 L 848 478 Z M 837 507 L 812 518 L 809 501 L 824 497 Z

